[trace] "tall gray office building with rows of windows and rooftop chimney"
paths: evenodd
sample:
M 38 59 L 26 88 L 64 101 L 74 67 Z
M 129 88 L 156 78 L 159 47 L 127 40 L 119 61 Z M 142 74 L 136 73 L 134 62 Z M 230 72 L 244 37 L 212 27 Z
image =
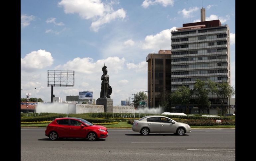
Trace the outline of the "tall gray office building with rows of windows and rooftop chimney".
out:
M 203 10 L 201 15 L 205 17 Z M 172 91 L 182 85 L 192 89 L 196 79 L 218 83 L 225 81 L 230 85 L 229 27 L 219 20 L 203 19 L 201 17 L 201 22 L 183 24 L 183 27 L 171 32 Z M 211 108 L 221 106 L 216 95 L 210 93 L 209 100 Z M 224 102 L 224 106 L 227 106 L 227 102 Z M 209 113 L 209 109 L 198 110 L 198 113 Z M 176 109 L 176 112 L 183 111 Z

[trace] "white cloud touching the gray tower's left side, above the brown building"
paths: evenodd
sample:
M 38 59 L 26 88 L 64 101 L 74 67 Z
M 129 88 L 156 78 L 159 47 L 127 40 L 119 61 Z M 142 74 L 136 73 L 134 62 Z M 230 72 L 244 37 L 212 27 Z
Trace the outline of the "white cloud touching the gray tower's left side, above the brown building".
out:
M 176 27 L 163 30 L 156 35 L 146 36 L 141 44 L 142 49 L 166 49 L 171 50 L 171 31 L 176 30 Z

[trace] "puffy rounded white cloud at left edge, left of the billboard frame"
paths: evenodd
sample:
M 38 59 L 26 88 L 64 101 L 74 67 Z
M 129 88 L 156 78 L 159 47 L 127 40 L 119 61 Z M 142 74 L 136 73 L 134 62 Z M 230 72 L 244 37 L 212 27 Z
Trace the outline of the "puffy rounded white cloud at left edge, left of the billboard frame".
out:
M 42 69 L 53 64 L 52 54 L 45 50 L 32 51 L 24 58 L 21 58 L 21 69 L 32 71 Z

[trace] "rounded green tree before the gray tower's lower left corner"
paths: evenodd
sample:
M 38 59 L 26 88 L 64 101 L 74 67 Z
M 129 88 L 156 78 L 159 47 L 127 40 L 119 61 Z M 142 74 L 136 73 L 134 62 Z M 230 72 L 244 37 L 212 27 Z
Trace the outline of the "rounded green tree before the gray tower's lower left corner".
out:
M 192 90 L 186 86 L 179 86 L 178 90 L 171 94 L 172 104 L 185 105 L 188 114 L 188 105 L 190 103 L 190 97 L 192 96 Z

